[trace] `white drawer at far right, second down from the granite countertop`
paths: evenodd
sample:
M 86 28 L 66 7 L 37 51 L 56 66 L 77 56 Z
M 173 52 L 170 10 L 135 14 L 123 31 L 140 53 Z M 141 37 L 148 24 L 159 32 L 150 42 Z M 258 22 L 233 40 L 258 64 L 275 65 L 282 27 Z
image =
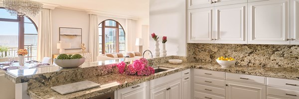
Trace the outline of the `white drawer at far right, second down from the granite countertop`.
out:
M 267 95 L 299 99 L 299 90 L 267 87 Z

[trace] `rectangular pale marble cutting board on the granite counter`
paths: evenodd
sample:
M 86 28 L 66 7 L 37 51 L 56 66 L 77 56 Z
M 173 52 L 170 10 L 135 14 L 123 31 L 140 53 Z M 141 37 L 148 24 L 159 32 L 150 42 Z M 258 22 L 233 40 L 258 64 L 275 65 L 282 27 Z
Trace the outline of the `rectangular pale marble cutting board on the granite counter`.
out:
M 86 89 L 91 89 L 91 88 L 95 88 L 95 87 L 99 87 L 99 86 L 100 86 L 100 84 L 98 84 L 98 83 L 94 83 L 94 82 L 86 80 L 86 81 L 82 81 L 82 82 L 76 82 L 76 83 L 51 87 L 51 89 L 61 95 L 65 95 L 65 94 L 83 91 Z

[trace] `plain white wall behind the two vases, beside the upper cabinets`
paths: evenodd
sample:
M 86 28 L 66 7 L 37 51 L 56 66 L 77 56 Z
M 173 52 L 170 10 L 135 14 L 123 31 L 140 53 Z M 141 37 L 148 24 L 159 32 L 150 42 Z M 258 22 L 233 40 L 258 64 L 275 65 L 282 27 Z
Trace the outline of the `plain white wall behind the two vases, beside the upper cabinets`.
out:
M 167 55 L 186 56 L 186 1 L 149 0 L 149 33 L 158 35 L 160 49 L 162 36 L 167 36 Z M 149 48 L 154 41 L 149 37 Z

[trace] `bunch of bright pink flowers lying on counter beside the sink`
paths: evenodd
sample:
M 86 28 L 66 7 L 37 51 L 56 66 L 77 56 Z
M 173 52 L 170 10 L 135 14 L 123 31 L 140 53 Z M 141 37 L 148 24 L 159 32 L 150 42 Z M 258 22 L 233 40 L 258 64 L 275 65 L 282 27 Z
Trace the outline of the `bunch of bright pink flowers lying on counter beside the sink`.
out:
M 116 66 L 121 74 L 125 73 L 127 75 L 139 76 L 148 76 L 150 74 L 154 74 L 154 69 L 148 65 L 148 60 L 146 58 L 134 60 L 132 64 L 126 64 L 124 61 L 122 61 Z

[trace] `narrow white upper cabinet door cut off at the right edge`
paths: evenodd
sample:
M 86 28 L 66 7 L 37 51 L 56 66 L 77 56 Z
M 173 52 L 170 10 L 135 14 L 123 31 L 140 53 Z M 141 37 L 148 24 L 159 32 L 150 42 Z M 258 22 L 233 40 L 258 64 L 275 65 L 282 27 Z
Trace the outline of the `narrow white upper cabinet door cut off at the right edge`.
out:
M 299 0 L 291 0 L 291 45 L 299 45 Z

